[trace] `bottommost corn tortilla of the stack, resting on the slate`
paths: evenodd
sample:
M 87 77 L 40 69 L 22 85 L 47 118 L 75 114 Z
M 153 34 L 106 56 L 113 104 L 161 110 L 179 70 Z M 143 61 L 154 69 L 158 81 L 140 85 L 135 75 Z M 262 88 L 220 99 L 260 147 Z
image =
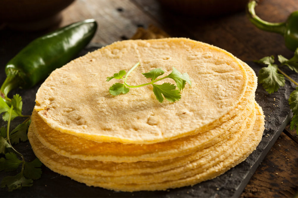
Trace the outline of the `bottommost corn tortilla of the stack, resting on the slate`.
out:
M 217 161 L 215 160 L 215 164 L 211 164 L 212 167 L 206 166 L 207 169 L 203 168 L 203 170 L 201 170 L 201 171 L 198 171 L 200 167 L 190 166 L 191 167 L 190 169 L 192 171 L 186 171 L 186 172 L 185 172 L 185 170 L 182 171 L 182 173 L 186 173 L 186 175 L 188 173 L 190 174 L 184 178 L 159 182 L 158 179 L 162 178 L 162 177 L 157 177 L 157 178 L 153 177 L 153 178 L 155 178 L 156 181 L 154 183 L 149 183 L 149 184 L 148 183 L 139 183 L 138 181 L 136 181 L 136 183 L 125 183 L 126 182 L 125 179 L 119 180 L 119 181 L 122 181 L 122 183 L 102 182 L 102 181 L 98 181 L 100 177 L 92 177 L 92 175 L 86 175 L 86 174 L 82 174 L 82 173 L 76 172 L 76 171 L 68 172 L 66 170 L 61 170 L 60 167 L 64 167 L 64 166 L 58 166 L 58 167 L 55 165 L 53 166 L 52 164 L 49 164 L 49 162 L 51 161 L 49 159 L 45 160 L 44 163 L 48 167 L 50 167 L 52 170 L 59 172 L 62 175 L 67 175 L 67 176 L 71 175 L 71 177 L 73 179 L 83 182 L 83 183 L 86 183 L 87 185 L 100 186 L 100 187 L 114 189 L 114 190 L 121 190 L 121 191 L 165 190 L 167 188 L 177 188 L 177 187 L 181 187 L 181 186 L 193 185 L 193 184 L 201 182 L 203 180 L 211 179 L 218 175 L 221 175 L 223 172 L 225 172 L 229 168 L 231 168 L 231 167 L 235 166 L 236 164 L 240 163 L 241 161 L 243 161 L 253 150 L 255 150 L 257 144 L 260 142 L 260 140 L 262 138 L 262 134 L 263 134 L 263 130 L 264 130 L 263 112 L 257 104 L 256 104 L 256 106 L 257 106 L 257 119 L 254 123 L 254 128 L 253 128 L 253 130 L 247 131 L 248 138 L 244 138 L 245 139 L 244 142 L 240 141 L 240 146 L 235 150 L 235 152 L 233 152 L 226 159 L 223 159 L 225 157 L 223 157 L 223 158 L 219 157 L 217 159 Z M 36 137 L 34 139 L 35 135 L 33 133 L 31 133 L 31 132 L 28 133 L 28 136 L 31 139 L 30 141 L 32 141 L 32 145 L 35 145 L 35 142 L 38 142 L 38 139 Z M 39 144 L 41 144 L 41 143 L 39 142 Z M 43 161 L 44 158 L 42 156 L 39 156 L 38 147 L 36 147 L 36 145 L 33 146 L 33 150 L 37 154 L 37 156 L 41 159 L 41 161 Z M 196 164 L 194 164 L 194 165 L 196 165 Z M 208 165 L 208 163 L 207 163 L 207 165 Z M 187 169 L 187 167 L 188 166 L 186 165 L 183 168 Z M 170 170 L 170 173 L 171 173 L 171 170 Z M 151 173 L 149 173 L 149 175 L 150 174 Z M 156 174 L 156 173 L 151 174 L 151 177 L 154 174 Z M 170 175 L 175 175 L 175 174 L 170 174 Z M 138 177 L 138 176 L 136 175 L 135 177 Z M 102 179 L 102 178 L 100 178 L 100 179 Z M 147 177 L 147 179 L 148 179 L 148 177 Z M 150 181 L 150 180 L 148 180 L 148 181 Z

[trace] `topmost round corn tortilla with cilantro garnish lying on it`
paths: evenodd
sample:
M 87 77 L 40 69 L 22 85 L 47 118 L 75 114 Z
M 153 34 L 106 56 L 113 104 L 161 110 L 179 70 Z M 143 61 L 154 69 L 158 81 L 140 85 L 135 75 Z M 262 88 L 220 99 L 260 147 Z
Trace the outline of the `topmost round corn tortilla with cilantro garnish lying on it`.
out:
M 152 86 L 113 96 L 105 82 L 140 62 L 128 84 L 149 82 L 142 74 L 175 67 L 192 80 L 175 103 L 159 103 Z M 174 83 L 172 79 L 159 81 Z M 35 110 L 53 129 L 103 142 L 153 144 L 209 130 L 228 120 L 248 78 L 238 59 L 212 45 L 185 38 L 116 42 L 55 70 L 36 94 Z M 224 117 L 225 116 L 225 117 Z M 221 119 L 224 117 L 225 120 Z M 169 124 L 170 123 L 170 124 Z

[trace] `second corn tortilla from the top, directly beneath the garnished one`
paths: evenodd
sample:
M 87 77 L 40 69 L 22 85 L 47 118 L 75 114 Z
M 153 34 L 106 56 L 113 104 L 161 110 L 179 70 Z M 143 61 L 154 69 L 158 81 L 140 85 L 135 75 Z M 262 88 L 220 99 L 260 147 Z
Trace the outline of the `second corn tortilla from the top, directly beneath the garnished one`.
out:
M 254 92 L 257 87 L 257 78 L 254 71 L 246 63 L 242 62 L 242 64 L 249 76 L 249 83 L 245 95 L 237 105 L 237 108 L 235 108 L 238 109 L 238 111 L 240 111 L 239 109 L 242 109 L 243 106 L 247 106 L 248 101 L 254 100 Z M 139 160 L 156 161 L 187 155 L 195 150 L 208 147 L 215 144 L 217 141 L 221 141 L 221 139 L 229 135 L 229 133 L 225 133 L 227 130 L 230 130 L 231 133 L 233 132 L 231 130 L 232 125 L 235 130 L 236 127 L 239 126 L 239 122 L 243 122 L 243 117 L 241 118 L 242 113 L 243 112 L 240 111 L 236 116 L 222 123 L 220 128 L 217 127 L 206 133 L 167 142 L 143 145 L 121 144 L 117 142 L 97 143 L 68 133 L 61 133 L 46 125 L 46 123 L 36 115 L 35 111 L 33 111 L 32 114 L 32 125 L 36 125 L 36 127 L 34 127 L 35 134 L 38 134 L 39 140 L 44 145 L 66 157 L 114 162 L 133 162 Z M 35 124 L 35 122 L 37 123 Z M 203 134 L 205 135 L 203 136 Z M 218 138 L 214 139 L 215 137 Z M 195 146 L 193 146 L 193 144 Z M 119 152 L 119 150 L 121 150 L 121 152 Z

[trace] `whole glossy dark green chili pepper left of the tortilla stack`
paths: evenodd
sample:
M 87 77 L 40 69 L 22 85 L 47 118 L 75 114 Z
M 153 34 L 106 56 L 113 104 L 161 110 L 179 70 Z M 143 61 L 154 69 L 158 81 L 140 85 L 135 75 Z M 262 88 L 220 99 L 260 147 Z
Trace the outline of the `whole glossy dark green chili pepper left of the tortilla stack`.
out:
M 87 19 L 33 40 L 7 63 L 1 97 L 10 100 L 10 90 L 30 88 L 71 61 L 90 42 L 96 29 L 96 21 Z

